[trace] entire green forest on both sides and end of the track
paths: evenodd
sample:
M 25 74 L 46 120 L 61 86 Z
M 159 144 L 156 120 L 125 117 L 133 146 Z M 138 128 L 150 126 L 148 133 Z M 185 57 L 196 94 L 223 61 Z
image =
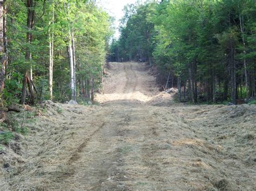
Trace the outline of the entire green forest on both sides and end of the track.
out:
M 1 103 L 85 102 L 103 89 L 107 61 L 157 69 L 178 100 L 244 103 L 255 97 L 253 0 L 147 1 L 125 6 L 119 39 L 95 1 L 1 1 Z M 111 41 L 112 39 L 112 41 Z

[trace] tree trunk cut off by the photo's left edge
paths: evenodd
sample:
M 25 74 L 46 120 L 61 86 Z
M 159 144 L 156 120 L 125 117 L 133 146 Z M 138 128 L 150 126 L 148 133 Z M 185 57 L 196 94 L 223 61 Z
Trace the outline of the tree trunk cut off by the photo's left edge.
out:
M 1 71 L 0 71 L 0 107 L 3 107 L 2 96 L 4 90 L 4 75 L 7 65 L 7 37 L 6 37 L 6 16 L 4 1 L 0 1 L 0 53 L 1 53 Z

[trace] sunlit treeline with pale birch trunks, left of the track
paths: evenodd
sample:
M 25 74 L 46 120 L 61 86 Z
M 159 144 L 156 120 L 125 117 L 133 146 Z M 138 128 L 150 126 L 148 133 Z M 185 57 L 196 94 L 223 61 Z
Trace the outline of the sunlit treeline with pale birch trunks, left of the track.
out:
M 95 1 L 0 2 L 2 104 L 93 100 L 111 18 Z

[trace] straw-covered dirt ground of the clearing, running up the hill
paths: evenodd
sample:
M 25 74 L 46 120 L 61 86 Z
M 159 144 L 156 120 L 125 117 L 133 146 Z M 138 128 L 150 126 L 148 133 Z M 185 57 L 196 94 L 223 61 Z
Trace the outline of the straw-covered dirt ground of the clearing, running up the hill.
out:
M 106 72 L 99 105 L 45 104 L 1 190 L 256 190 L 255 105 L 174 103 L 142 63 Z

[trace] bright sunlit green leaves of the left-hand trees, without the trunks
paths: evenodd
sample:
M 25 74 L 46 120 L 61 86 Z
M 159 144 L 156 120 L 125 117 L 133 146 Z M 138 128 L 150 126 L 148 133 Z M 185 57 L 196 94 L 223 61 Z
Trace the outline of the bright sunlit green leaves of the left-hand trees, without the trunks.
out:
M 35 3 L 35 26 L 32 41 L 26 43 L 28 8 L 21 0 L 6 0 L 8 31 L 8 68 L 4 100 L 7 105 L 21 98 L 23 74 L 32 70 L 36 101 L 50 99 L 49 43 L 53 40 L 53 100 L 70 100 L 70 66 L 67 52 L 70 31 L 73 32 L 76 52 L 76 84 L 78 97 L 84 80 L 95 79 L 100 87 L 101 66 L 105 62 L 107 43 L 113 33 L 112 19 L 91 1 L 53 0 Z M 53 20 L 52 20 L 53 18 Z M 53 39 L 52 39 L 53 38 Z M 31 60 L 25 59 L 30 51 Z M 28 86 L 27 86 L 28 87 Z M 27 88 L 28 90 L 28 88 Z

